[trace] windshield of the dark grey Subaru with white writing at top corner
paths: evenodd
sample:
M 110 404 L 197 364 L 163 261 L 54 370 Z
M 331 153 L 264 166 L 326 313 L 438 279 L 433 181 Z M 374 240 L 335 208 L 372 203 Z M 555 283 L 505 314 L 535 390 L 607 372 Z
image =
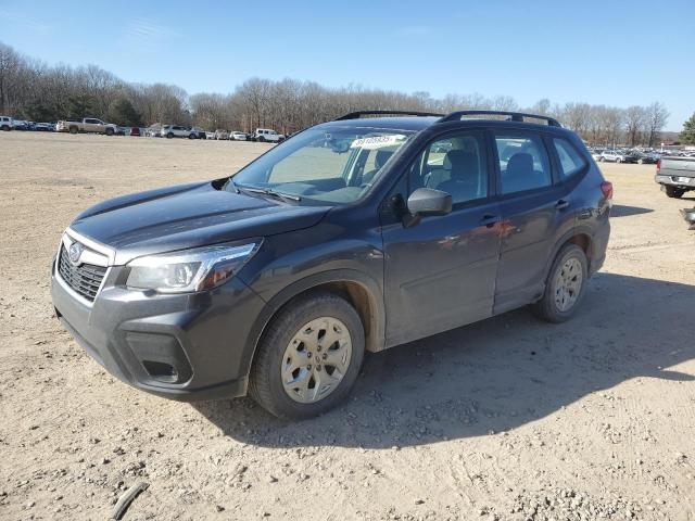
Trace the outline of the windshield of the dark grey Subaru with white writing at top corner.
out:
M 412 135 L 379 128 L 308 129 L 235 174 L 227 189 L 256 188 L 301 200 L 353 203 L 367 193 Z

